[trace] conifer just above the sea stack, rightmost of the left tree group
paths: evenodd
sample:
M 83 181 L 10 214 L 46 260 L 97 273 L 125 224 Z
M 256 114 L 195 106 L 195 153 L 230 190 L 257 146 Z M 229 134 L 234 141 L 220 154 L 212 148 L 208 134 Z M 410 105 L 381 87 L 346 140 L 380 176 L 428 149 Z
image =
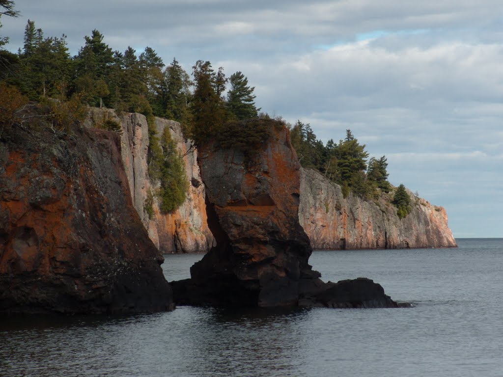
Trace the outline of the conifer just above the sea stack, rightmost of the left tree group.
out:
M 248 79 L 237 71 L 230 76 L 230 89 L 227 93 L 227 109 L 238 120 L 257 118 L 260 109 L 255 106 L 254 87 L 248 86 Z

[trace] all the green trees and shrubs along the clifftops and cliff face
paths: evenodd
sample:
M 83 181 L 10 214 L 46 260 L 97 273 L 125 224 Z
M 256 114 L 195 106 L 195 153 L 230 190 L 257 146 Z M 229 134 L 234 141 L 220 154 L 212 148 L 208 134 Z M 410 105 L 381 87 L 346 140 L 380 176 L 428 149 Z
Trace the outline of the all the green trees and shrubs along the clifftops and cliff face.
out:
M 12 1 L 0 0 L 0 7 L 6 10 L 0 12 L 0 16 L 16 17 L 13 6 Z M 64 34 L 46 37 L 31 20 L 27 22 L 24 43 L 17 54 L 2 48 L 7 42 L 7 38 L 0 36 L 0 110 L 3 112 L 0 137 L 4 127 L 13 124 L 14 114 L 27 100 L 52 99 L 48 103 L 54 119 L 59 119 L 56 125 L 62 128 L 76 119 L 71 113 L 81 115 L 79 105 L 144 114 L 149 126 L 149 175 L 160 184 L 149 201 L 157 197 L 165 212 L 183 203 L 188 187 L 177 184 L 184 181 L 183 162 L 174 153 L 169 133 L 156 135 L 155 116 L 180 122 L 185 136 L 196 145 L 217 140 L 222 146 L 240 145 L 249 155 L 252 153 L 248 149 L 266 140 L 268 130 L 278 123 L 271 123 L 274 120 L 267 114 L 259 114 L 255 87 L 248 85 L 242 72 L 226 77 L 223 67 L 214 69 L 209 61 L 198 60 L 189 75 L 176 58 L 165 65 L 151 47 L 145 47 L 140 53 L 132 47 L 124 52 L 113 50 L 98 30 L 84 37 L 83 46 L 71 56 Z M 55 105 L 54 99 L 59 105 Z M 318 169 L 340 184 L 345 197 L 353 193 L 376 200 L 381 193 L 392 191 L 387 180 L 386 157 L 368 159 L 365 145 L 361 145 L 350 130 L 339 143 L 330 139 L 323 144 L 309 124 L 298 121 L 287 126 L 301 164 Z M 108 128 L 117 130 L 117 125 Z M 410 201 L 403 199 L 401 189 L 402 199 L 397 207 L 403 217 L 409 212 Z

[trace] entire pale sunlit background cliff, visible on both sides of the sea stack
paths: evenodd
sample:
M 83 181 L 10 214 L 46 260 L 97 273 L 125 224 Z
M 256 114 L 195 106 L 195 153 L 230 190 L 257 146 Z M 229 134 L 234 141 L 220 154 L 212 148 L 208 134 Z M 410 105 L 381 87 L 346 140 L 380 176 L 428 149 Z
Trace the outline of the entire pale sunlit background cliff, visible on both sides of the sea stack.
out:
M 149 218 L 145 200 L 155 185 L 148 178 L 148 126 L 141 114 L 91 109 L 88 127 L 105 118 L 118 121 L 123 129 L 121 156 L 134 207 L 150 239 L 163 253 L 207 252 L 214 244 L 208 227 L 205 185 L 197 163 L 198 150 L 190 149 L 180 124 L 156 118 L 157 134 L 169 127 L 179 152 L 184 155 L 189 193 L 183 205 L 163 214 L 153 205 Z M 189 150 L 190 149 L 190 150 Z M 299 220 L 314 249 L 453 247 L 456 241 L 447 225 L 442 207 L 432 206 L 412 193 L 412 212 L 400 220 L 396 209 L 383 196 L 377 203 L 350 196 L 344 199 L 340 187 L 312 169 L 300 169 Z

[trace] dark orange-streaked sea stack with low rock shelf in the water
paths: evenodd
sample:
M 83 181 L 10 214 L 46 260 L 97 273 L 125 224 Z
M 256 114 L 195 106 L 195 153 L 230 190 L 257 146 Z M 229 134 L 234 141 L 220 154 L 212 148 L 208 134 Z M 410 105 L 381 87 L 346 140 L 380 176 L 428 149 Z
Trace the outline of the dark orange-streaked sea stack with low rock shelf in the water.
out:
M 308 264 L 299 224 L 299 162 L 288 130 L 251 157 L 241 150 L 199 150 L 208 225 L 216 239 L 191 278 L 174 281 L 177 304 L 213 306 L 396 307 L 372 280 L 324 283 Z

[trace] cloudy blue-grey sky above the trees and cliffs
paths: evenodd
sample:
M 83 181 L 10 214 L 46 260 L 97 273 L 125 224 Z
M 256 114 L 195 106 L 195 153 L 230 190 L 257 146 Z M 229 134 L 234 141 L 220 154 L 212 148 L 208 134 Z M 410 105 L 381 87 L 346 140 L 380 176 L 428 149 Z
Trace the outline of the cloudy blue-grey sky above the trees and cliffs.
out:
M 443 206 L 454 236 L 503 237 L 501 0 L 18 0 L 7 46 L 28 19 L 67 36 L 93 29 L 113 50 L 149 46 L 190 73 L 242 71 L 256 104 L 309 123 L 323 142 L 351 129 L 389 181 Z

